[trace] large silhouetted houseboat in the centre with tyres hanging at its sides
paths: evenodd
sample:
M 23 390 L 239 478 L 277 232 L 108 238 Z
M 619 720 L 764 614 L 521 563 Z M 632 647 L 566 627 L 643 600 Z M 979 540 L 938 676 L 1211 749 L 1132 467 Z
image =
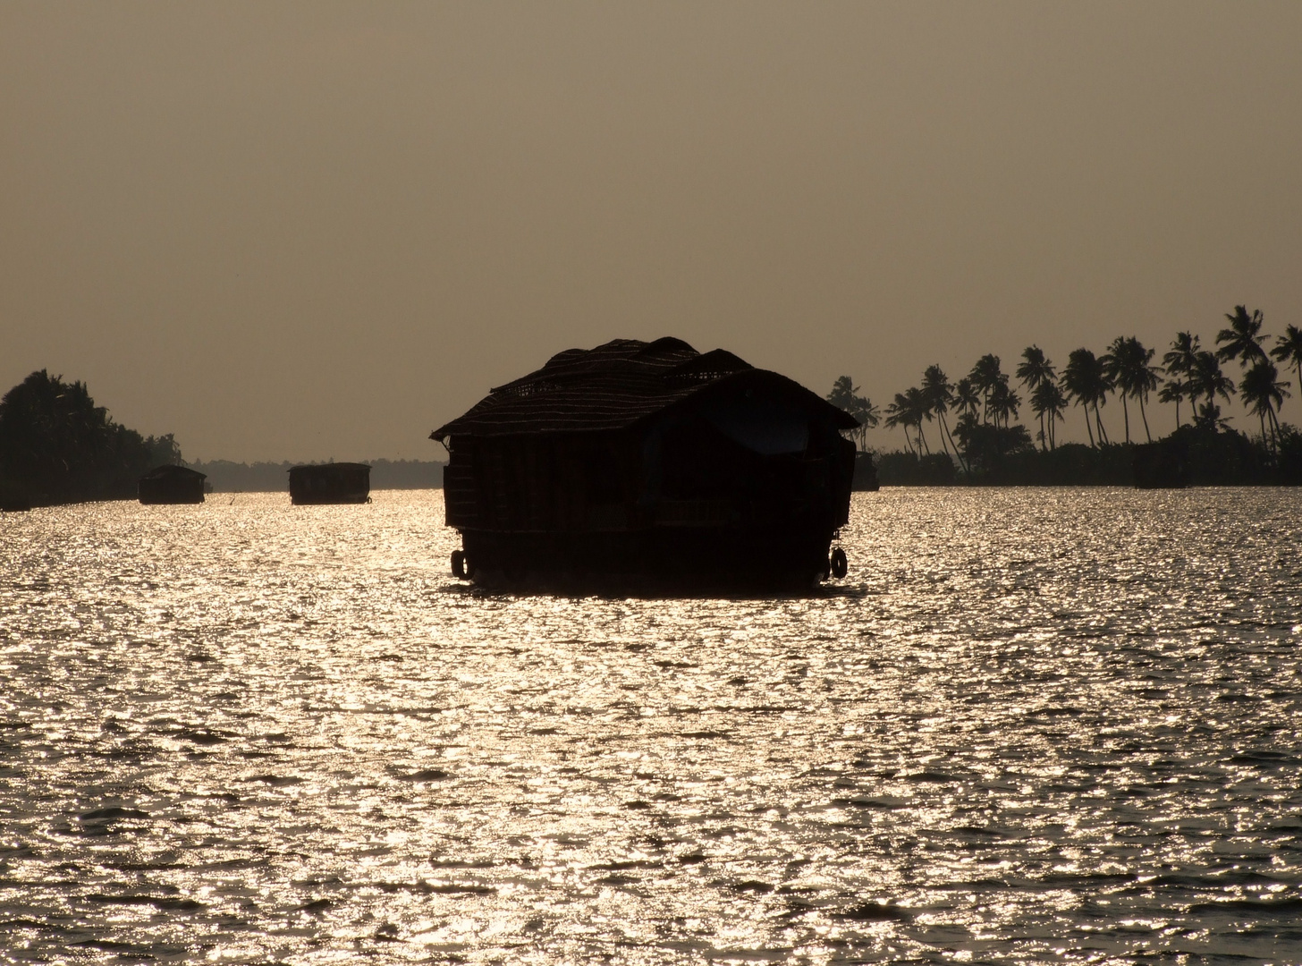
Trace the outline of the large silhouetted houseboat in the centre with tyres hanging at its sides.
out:
M 431 434 L 453 572 L 490 587 L 802 590 L 845 573 L 858 423 L 678 338 L 568 349 Z

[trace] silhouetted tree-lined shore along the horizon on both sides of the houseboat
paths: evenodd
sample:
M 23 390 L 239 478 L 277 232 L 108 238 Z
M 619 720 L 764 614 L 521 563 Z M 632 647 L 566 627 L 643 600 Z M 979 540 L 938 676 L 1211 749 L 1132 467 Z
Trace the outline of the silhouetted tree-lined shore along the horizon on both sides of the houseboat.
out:
M 1120 336 L 1101 355 L 1075 349 L 1061 371 L 1035 345 L 1022 352 L 1012 376 L 995 354 L 982 355 L 954 383 L 932 365 L 921 384 L 896 393 L 884 413 L 859 394 L 850 376 L 840 376 L 827 398 L 859 421 L 854 436 L 861 450 L 867 448 L 868 430 L 879 424 L 904 432 L 904 450 L 876 456 L 883 483 L 1129 483 L 1129 449 L 1138 434 L 1131 432 L 1130 404 L 1151 443 L 1147 405 L 1154 394 L 1176 406 L 1176 431 L 1165 440 L 1193 454 L 1202 467 L 1197 482 L 1302 483 L 1302 434 L 1280 421 L 1293 383 L 1276 366 L 1295 374 L 1302 391 L 1302 329 L 1288 325 L 1267 345 L 1259 310 L 1236 306 L 1225 318 L 1229 324 L 1213 346 L 1204 349 L 1197 335 L 1180 332 L 1161 365 L 1154 362 L 1155 349 Z M 1240 368 L 1237 383 L 1224 370 L 1233 363 Z M 1034 440 L 1014 422 L 1022 393 L 1038 421 Z M 1232 430 L 1221 414 L 1217 401 L 1229 402 L 1236 394 L 1258 418 L 1256 439 Z M 1103 422 L 1101 407 L 1109 398 L 1121 402 L 1118 443 Z M 1059 423 L 1072 405 L 1085 417 L 1088 447 L 1057 443 Z M 932 423 L 940 452 L 927 439 Z M 142 436 L 116 423 L 83 383 L 40 370 L 0 398 L 0 506 L 129 499 L 145 473 L 182 462 L 171 434 Z M 201 471 L 211 470 L 217 490 L 283 490 L 288 467 L 195 463 Z M 374 467 L 376 488 L 441 484 L 441 463 L 376 461 Z

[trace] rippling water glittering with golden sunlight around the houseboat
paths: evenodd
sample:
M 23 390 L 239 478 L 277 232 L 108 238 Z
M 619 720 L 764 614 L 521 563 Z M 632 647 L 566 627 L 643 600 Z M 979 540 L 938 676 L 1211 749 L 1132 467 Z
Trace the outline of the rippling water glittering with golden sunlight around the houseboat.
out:
M 441 521 L 0 517 L 5 961 L 1302 961 L 1302 492 L 855 495 L 745 601 Z

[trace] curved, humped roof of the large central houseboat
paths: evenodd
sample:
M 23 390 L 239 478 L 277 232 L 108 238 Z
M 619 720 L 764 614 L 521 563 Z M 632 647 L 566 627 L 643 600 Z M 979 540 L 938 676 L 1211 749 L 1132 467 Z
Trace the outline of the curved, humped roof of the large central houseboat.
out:
M 776 372 L 759 370 L 724 349 L 698 353 L 681 338 L 615 338 L 595 349 L 566 349 L 535 372 L 496 387 L 430 439 L 454 434 L 501 436 L 523 432 L 618 430 L 710 387 L 754 381 L 798 394 L 837 428 L 853 417 Z

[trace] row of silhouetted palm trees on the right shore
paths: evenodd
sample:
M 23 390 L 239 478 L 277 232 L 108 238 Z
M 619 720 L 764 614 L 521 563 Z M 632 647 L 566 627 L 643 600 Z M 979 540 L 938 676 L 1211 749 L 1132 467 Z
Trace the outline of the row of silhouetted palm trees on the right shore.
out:
M 1129 470 L 1120 467 L 1129 466 L 1129 460 L 1108 454 L 1108 450 L 1117 443 L 1129 448 L 1138 441 L 1138 427 L 1131 426 L 1131 404 L 1143 427 L 1143 441 L 1154 441 L 1147 413 L 1152 394 L 1159 402 L 1176 405 L 1176 432 L 1167 439 L 1194 445 L 1207 460 L 1223 458 L 1229 449 L 1234 450 L 1233 463 L 1242 469 L 1237 474 L 1241 479 L 1220 482 L 1263 482 L 1281 474 L 1292 480 L 1299 471 L 1295 463 L 1302 461 L 1302 436 L 1280 422 L 1280 409 L 1293 383 L 1281 379 L 1276 362 L 1285 374 L 1294 372 L 1302 387 L 1302 329 L 1288 325 L 1271 345 L 1262 332 L 1264 319 L 1259 310 L 1236 306 L 1225 319 L 1229 324 L 1217 332 L 1210 348 L 1203 348 L 1193 332 L 1177 333 L 1161 365 L 1154 362 L 1155 349 L 1134 336 L 1118 336 L 1101 355 L 1086 348 L 1075 349 L 1061 371 L 1035 345 L 1022 352 L 1012 378 L 1003 371 L 995 354 L 982 355 L 966 376 L 953 383 L 940 366 L 928 366 L 922 381 L 896 393 L 884 411 L 859 394 L 850 376 L 840 376 L 827 398 L 859 421 L 854 434 L 859 449 L 866 449 L 867 431 L 879 424 L 902 431 L 904 450 L 878 454 L 880 469 L 885 471 L 884 483 L 892 482 L 888 479 L 892 466 L 915 467 L 913 475 L 922 478 L 948 475 L 975 480 L 1006 476 L 1010 465 L 1019 467 L 1014 476 L 1044 476 L 1048 467 L 1074 466 L 1077 474 L 1088 478 L 1081 482 L 1117 482 L 1116 476 L 1128 475 Z M 1237 384 L 1226 374 L 1226 363 L 1238 365 Z M 1223 417 L 1217 400 L 1229 402 L 1236 394 L 1258 417 L 1259 437 L 1236 434 Z M 1100 411 L 1109 398 L 1120 400 L 1122 409 L 1124 439 L 1117 443 L 1109 437 Z M 1181 409 L 1186 401 L 1187 424 Z M 1025 426 L 1014 422 L 1023 402 L 1038 421 L 1034 440 Z M 1065 448 L 1073 452 L 1051 456 L 1064 449 L 1057 443 L 1057 427 L 1073 405 L 1085 417 L 1090 444 L 1087 448 L 1066 444 Z M 931 423 L 935 423 L 939 453 L 927 440 L 926 427 Z M 1226 435 L 1240 439 L 1215 439 Z M 1086 452 L 1074 452 L 1077 447 Z M 1039 460 L 1031 456 L 1036 453 Z M 932 471 L 918 469 L 923 466 Z

